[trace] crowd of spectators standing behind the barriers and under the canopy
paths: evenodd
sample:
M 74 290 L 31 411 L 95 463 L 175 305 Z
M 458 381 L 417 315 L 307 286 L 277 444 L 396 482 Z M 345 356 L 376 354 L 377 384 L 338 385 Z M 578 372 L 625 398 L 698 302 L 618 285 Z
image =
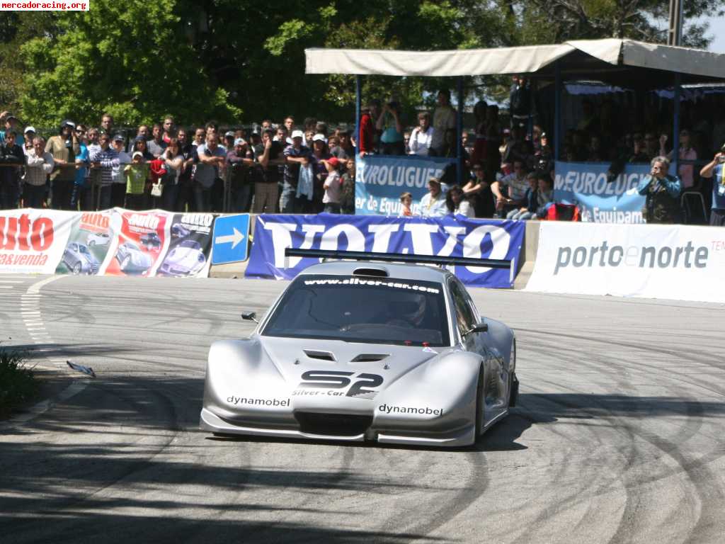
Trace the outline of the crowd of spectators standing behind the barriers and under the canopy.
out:
M 654 107 L 645 108 L 645 128 L 623 126 L 621 112 L 608 99 L 598 105 L 584 99 L 581 110 L 576 128 L 563 134 L 561 160 L 608 162 L 612 178 L 631 162 L 651 162 L 653 172 L 655 160 L 658 168 L 668 168 L 671 119 L 661 120 Z M 33 126 L 21 131 L 17 118 L 4 112 L 0 208 L 352 214 L 358 154 L 455 157 L 462 150 L 460 186 L 455 170 L 447 169 L 441 179 L 429 181 L 415 213 L 519 220 L 547 215 L 555 157 L 551 139 L 531 115 L 525 78 L 513 79 L 505 122 L 497 104 L 480 101 L 473 108 L 474 130 L 463 134 L 457 134 L 447 89 L 438 92 L 433 110 L 418 112 L 413 127 L 394 98 L 371 100 L 361 114 L 357 134 L 314 118 L 297 123 L 289 116 L 281 123 L 263 120 L 252 129 L 224 132 L 212 122 L 187 129 L 167 117 L 131 135 L 115 129 L 111 115 L 103 115 L 97 128 L 65 120 L 46 140 Z M 711 172 L 700 176 L 697 160 L 711 157 L 716 143 L 725 141 L 725 121 L 713 122 L 704 114 L 697 107 L 683 108 L 679 191 L 675 195 L 672 186 L 665 191 L 671 199 L 684 191 L 710 198 Z M 666 175 L 663 170 L 661 176 Z M 402 194 L 400 201 L 400 215 L 412 215 L 411 195 Z M 655 215 L 650 210 L 650 221 Z M 679 215 L 673 218 L 679 221 Z

